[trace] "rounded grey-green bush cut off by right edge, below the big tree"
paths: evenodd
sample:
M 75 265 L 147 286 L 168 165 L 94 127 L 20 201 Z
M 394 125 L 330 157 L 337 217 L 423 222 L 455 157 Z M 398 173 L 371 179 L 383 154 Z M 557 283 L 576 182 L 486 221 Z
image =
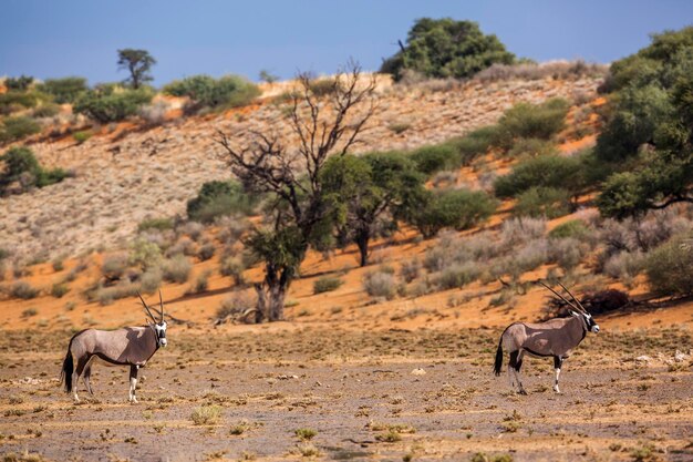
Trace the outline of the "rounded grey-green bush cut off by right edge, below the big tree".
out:
M 652 250 L 644 270 L 650 287 L 658 294 L 693 294 L 693 233 L 675 236 Z

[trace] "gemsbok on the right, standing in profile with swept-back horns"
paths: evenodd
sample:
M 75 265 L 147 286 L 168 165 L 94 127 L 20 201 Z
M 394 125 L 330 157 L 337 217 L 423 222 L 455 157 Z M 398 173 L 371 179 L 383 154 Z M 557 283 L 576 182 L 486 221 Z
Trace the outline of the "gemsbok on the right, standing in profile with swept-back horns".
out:
M 562 284 L 558 283 L 575 300 L 575 304 L 568 301 L 563 296 L 546 284 L 541 281 L 539 281 L 539 284 L 560 297 L 560 299 L 567 302 L 573 310 L 570 310 L 570 316 L 567 318 L 555 318 L 546 322 L 534 324 L 514 322 L 504 330 L 500 336 L 500 341 L 498 342 L 498 350 L 496 351 L 494 372 L 496 376 L 500 376 L 503 351 L 507 351 L 510 356 L 510 363 L 508 365 L 510 387 L 515 389 L 513 381 L 513 376 L 515 376 L 515 381 L 517 381 L 520 394 L 527 394 L 523 388 L 519 376 L 525 352 L 535 357 L 554 357 L 554 368 L 556 371 L 554 391 L 560 393 L 558 378 L 563 360 L 580 345 L 588 331 L 594 333 L 599 332 L 599 326 L 594 322 L 592 316 L 587 312 L 582 304 L 580 304 Z

